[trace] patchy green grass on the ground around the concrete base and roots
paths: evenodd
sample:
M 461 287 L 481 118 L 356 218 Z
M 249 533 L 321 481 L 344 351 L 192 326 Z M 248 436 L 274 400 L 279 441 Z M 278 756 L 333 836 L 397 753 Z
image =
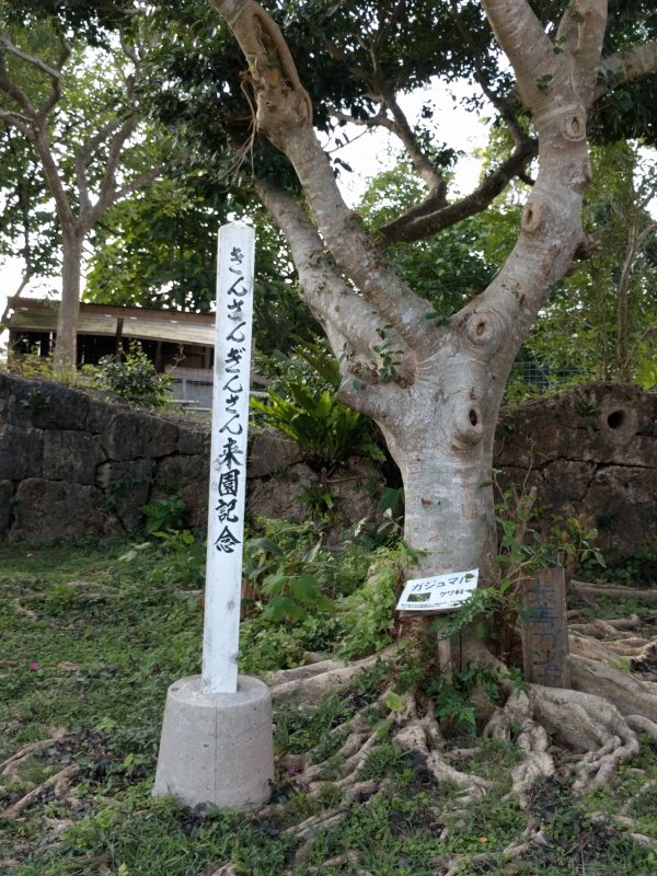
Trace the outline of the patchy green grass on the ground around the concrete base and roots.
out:
M 275 809 L 201 817 L 150 795 L 166 688 L 199 671 L 198 563 L 185 550 L 113 541 L 8 544 L 0 568 L 0 761 L 25 752 L 0 770 L 0 806 L 7 816 L 27 799 L 0 818 L 3 875 L 209 876 L 228 862 L 235 876 L 442 876 L 450 867 L 461 876 L 657 873 L 655 853 L 642 844 L 657 841 L 657 758 L 648 738 L 612 784 L 577 797 L 567 784 L 543 782 L 528 810 L 506 799 L 520 757 L 514 745 L 464 740 L 458 764 L 494 785 L 462 806 L 422 758 L 383 738 L 362 777 L 383 781 L 384 789 L 356 800 L 292 864 L 299 841 L 290 828 L 341 795 L 331 769 L 316 798 L 299 793 L 293 759 L 312 752 L 323 762 L 339 749 L 344 737 L 331 731 L 374 703 L 377 670 L 369 685 L 360 679 L 314 711 L 293 703 L 277 710 Z M 262 627 L 256 618 L 247 624 L 249 671 L 258 660 L 289 665 L 318 642 L 331 644 L 309 621 L 279 625 L 258 650 Z M 372 705 L 372 726 L 381 717 Z M 623 830 L 619 815 L 643 839 Z M 508 852 L 537 828 L 540 844 Z

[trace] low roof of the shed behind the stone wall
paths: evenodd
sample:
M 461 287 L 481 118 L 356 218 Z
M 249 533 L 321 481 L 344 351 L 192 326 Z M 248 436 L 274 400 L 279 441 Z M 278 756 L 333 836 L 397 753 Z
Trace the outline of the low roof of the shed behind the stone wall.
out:
M 55 332 L 57 301 L 35 298 L 10 298 L 12 332 Z M 123 322 L 123 324 L 122 324 Z M 172 310 L 147 310 L 106 304 L 80 304 L 78 334 L 122 334 L 142 341 L 164 341 L 173 344 L 215 345 L 212 313 L 183 313 Z

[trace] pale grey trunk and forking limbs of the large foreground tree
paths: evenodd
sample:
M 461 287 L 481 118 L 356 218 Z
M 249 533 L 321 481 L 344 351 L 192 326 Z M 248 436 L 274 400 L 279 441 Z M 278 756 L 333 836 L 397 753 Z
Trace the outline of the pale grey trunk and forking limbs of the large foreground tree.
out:
M 539 173 L 506 264 L 441 327 L 427 319 L 430 304 L 400 280 L 344 204 L 277 25 L 254 0 L 212 2 L 249 61 L 257 131 L 287 155 L 302 185 L 312 219 L 272 183 L 257 184 L 287 235 L 301 292 L 341 361 L 342 397 L 379 423 L 400 466 L 405 538 L 425 552 L 419 572 L 485 569 L 495 542 L 492 453 L 506 380 L 551 286 L 586 243 L 586 120 L 599 89 L 606 4 L 573 3 L 555 51 L 526 0 L 483 0 L 533 117 Z M 531 150 L 531 141 L 520 148 Z M 428 178 L 429 188 L 431 182 L 435 197 L 439 186 Z M 445 209 L 449 205 L 438 212 Z M 422 211 L 411 217 L 423 218 Z M 433 222 L 423 233 L 439 227 Z M 415 239 L 407 218 L 403 232 L 389 229 L 389 239 Z M 383 330 L 389 346 L 377 354 Z M 387 370 L 391 357 L 394 379 Z

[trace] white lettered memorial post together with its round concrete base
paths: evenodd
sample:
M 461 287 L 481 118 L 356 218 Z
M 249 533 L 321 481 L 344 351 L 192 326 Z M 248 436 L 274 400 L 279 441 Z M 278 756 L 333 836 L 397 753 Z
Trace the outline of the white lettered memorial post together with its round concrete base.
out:
M 203 671 L 166 693 L 155 796 L 192 808 L 249 808 L 269 798 L 274 779 L 272 698 L 238 675 L 254 232 L 219 231 L 212 440 Z

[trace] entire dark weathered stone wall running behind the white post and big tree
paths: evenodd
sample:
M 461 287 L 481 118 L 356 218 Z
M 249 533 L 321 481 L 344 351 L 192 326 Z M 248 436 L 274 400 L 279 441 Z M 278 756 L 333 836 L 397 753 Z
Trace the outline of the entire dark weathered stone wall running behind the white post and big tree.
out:
M 186 523 L 203 527 L 209 446 L 205 423 L 0 373 L 0 538 L 131 531 L 141 505 L 172 494 L 186 503 Z M 595 384 L 520 405 L 500 419 L 495 465 L 503 484 L 535 484 L 555 512 L 587 512 L 611 558 L 657 538 L 656 394 Z M 365 460 L 326 479 L 278 435 L 254 439 L 249 477 L 249 507 L 267 517 L 304 519 L 309 491 L 325 491 L 336 537 L 376 516 L 382 483 Z

